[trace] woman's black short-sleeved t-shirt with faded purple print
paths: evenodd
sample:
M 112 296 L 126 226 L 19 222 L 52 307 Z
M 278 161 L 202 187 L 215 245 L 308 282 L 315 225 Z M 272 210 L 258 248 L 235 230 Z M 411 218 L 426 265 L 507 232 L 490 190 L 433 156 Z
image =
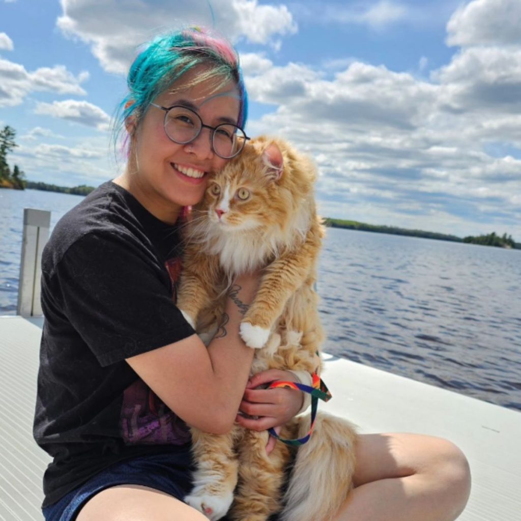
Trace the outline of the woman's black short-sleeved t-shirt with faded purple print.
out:
M 175 305 L 178 228 L 106 182 L 56 225 L 42 257 L 34 438 L 54 461 L 47 506 L 100 470 L 180 450 L 190 435 L 125 358 L 194 334 Z

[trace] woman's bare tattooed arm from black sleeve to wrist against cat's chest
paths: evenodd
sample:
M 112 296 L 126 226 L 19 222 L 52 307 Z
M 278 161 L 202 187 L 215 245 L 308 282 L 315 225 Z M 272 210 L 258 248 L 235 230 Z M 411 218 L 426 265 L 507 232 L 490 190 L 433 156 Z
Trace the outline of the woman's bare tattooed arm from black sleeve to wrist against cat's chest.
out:
M 127 358 L 148 386 L 187 424 L 206 432 L 228 432 L 250 374 L 254 350 L 239 337 L 245 306 L 258 287 L 258 276 L 235 281 L 221 328 L 206 348 L 193 335 L 162 348 Z

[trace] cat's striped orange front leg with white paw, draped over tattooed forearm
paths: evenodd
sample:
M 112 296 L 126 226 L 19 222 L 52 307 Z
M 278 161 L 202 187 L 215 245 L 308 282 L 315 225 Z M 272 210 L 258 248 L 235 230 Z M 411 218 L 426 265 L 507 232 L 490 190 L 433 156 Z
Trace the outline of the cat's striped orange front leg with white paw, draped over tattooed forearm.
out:
M 320 239 L 318 231 L 312 228 L 299 249 L 281 255 L 267 266 L 255 300 L 240 326 L 241 337 L 251 348 L 265 345 L 291 295 L 310 277 L 320 250 Z

